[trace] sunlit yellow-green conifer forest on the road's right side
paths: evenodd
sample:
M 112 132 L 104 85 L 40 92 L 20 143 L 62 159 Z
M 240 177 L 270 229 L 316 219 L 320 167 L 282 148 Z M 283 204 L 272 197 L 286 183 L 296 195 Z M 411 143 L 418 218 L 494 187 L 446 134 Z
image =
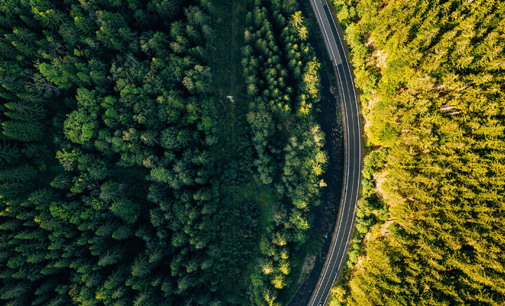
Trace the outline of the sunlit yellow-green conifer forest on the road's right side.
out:
M 331 304 L 505 303 L 505 5 L 334 3 L 375 151 Z

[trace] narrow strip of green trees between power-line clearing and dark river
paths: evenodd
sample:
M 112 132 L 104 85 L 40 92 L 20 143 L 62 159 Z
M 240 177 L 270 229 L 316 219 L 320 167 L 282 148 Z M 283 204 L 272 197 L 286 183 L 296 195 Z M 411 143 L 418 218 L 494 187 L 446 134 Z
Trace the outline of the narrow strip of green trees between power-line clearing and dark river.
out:
M 275 190 L 260 238 L 264 257 L 251 279 L 256 299 L 270 305 L 278 304 L 276 289 L 290 283 L 290 248 L 305 242 L 307 212 L 319 205 L 320 187 L 326 185 L 319 179 L 327 162 L 321 150 L 324 134 L 315 121 L 320 63 L 306 43 L 308 29 L 295 4 L 256 1 L 244 33 L 243 77 L 256 180 Z

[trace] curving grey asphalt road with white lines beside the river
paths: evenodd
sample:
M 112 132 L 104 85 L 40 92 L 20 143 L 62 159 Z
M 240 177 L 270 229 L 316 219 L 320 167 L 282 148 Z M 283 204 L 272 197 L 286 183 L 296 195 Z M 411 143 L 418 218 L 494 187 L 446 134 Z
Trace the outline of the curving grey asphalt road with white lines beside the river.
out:
M 328 294 L 333 283 L 337 280 L 342 265 L 349 249 L 351 233 L 354 230 L 356 216 L 356 203 L 361 184 L 361 127 L 358 110 L 358 95 L 354 85 L 353 75 L 349 60 L 345 56 L 342 37 L 337 31 L 337 26 L 326 0 L 310 0 L 310 5 L 318 19 L 328 54 L 332 59 L 333 68 L 337 75 L 340 95 L 343 101 L 345 114 L 345 141 L 346 141 L 346 167 L 345 187 L 339 208 L 340 217 L 336 223 L 333 235 L 333 244 L 328 251 L 323 271 L 312 297 L 310 306 L 328 303 Z

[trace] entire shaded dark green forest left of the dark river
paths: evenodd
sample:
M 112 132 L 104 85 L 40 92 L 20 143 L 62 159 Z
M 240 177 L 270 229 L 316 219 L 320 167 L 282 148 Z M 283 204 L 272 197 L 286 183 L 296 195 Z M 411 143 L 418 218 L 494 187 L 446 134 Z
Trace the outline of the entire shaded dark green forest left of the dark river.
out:
M 287 298 L 325 185 L 320 64 L 294 0 L 245 1 L 226 99 L 223 4 L 0 1 L 0 304 Z

